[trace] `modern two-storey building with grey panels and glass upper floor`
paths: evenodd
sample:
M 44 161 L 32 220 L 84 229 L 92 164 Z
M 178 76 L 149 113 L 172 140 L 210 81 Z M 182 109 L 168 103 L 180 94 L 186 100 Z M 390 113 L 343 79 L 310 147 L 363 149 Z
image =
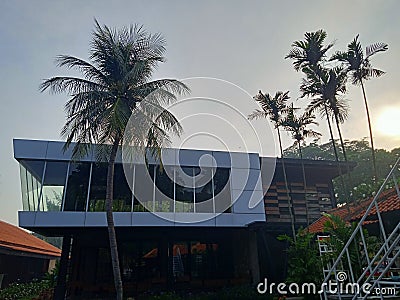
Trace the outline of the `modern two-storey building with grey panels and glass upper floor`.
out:
M 96 159 L 96 148 L 72 160 L 63 145 L 14 140 L 23 202 L 19 224 L 64 237 L 61 265 L 70 266 L 70 295 L 107 294 L 113 281 L 106 163 Z M 122 164 L 119 151 L 115 165 L 114 221 L 127 295 L 257 283 L 265 276 L 279 280 L 285 245 L 276 236 L 290 233 L 289 200 L 296 227 L 311 224 L 336 205 L 332 178 L 338 167 L 345 173 L 344 165 L 305 161 L 304 189 L 300 161 L 285 159 L 288 199 L 282 161 L 257 153 L 165 149 L 163 167 L 151 157 L 147 163 Z M 202 184 L 187 185 L 198 176 Z

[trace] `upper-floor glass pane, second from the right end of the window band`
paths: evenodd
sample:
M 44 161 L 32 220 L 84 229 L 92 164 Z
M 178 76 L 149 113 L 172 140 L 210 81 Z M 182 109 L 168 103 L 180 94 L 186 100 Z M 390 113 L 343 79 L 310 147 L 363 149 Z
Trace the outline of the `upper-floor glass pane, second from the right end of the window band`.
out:
M 212 169 L 211 168 L 194 168 L 196 174 L 195 205 L 196 213 L 212 213 L 213 191 L 212 191 Z

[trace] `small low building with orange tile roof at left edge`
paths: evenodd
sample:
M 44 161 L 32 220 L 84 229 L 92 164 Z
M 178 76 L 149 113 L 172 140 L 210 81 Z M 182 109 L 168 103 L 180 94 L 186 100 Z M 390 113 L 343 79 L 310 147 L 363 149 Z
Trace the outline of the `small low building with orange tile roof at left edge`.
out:
M 0 221 L 0 288 L 13 282 L 40 279 L 60 256 L 60 249 Z

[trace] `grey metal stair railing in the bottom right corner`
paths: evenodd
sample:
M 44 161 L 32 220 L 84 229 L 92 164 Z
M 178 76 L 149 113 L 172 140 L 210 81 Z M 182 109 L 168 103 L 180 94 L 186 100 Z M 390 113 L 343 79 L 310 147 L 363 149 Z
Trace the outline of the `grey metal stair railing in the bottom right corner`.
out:
M 371 296 L 379 297 L 383 299 L 385 296 L 380 293 L 374 293 L 377 289 L 382 290 L 382 287 L 391 286 L 391 291 L 399 293 L 400 290 L 400 279 L 394 280 L 389 278 L 385 280 L 385 276 L 390 275 L 391 270 L 396 270 L 400 274 L 400 266 L 395 266 L 395 261 L 400 257 L 400 217 L 385 217 L 382 218 L 380 206 L 382 207 L 386 197 L 392 197 L 397 195 L 396 201 L 400 201 L 400 188 L 398 177 L 400 168 L 400 158 L 397 159 L 396 163 L 392 167 L 391 171 L 387 175 L 385 181 L 375 194 L 371 203 L 365 210 L 365 214 L 360 219 L 349 240 L 346 242 L 339 256 L 334 259 L 334 262 L 330 265 L 330 270 L 324 272 L 324 281 L 322 283 L 323 291 L 320 294 L 321 299 L 328 298 L 347 298 L 347 299 L 366 299 Z M 392 192 L 386 191 L 388 188 L 392 189 Z M 393 195 L 394 193 L 394 195 Z M 375 211 L 373 209 L 375 208 Z M 368 241 L 366 239 L 366 223 L 371 223 L 367 218 L 376 213 L 377 219 L 374 220 L 378 225 L 378 235 L 381 243 L 379 250 L 370 251 L 368 248 Z M 395 214 L 394 214 L 395 215 Z M 395 215 L 396 216 L 396 215 Z M 366 222 L 367 221 L 367 222 Z M 359 249 L 358 254 L 364 258 L 361 260 L 352 260 L 350 249 Z M 356 266 L 357 264 L 357 266 Z M 338 277 L 338 267 L 340 266 L 342 272 L 342 266 L 346 266 L 344 278 Z M 350 275 L 350 276 L 349 276 Z M 347 280 L 347 282 L 345 282 Z M 330 283 L 335 283 L 337 287 L 332 291 L 327 290 L 326 287 L 330 286 Z M 368 287 L 368 289 L 366 288 Z

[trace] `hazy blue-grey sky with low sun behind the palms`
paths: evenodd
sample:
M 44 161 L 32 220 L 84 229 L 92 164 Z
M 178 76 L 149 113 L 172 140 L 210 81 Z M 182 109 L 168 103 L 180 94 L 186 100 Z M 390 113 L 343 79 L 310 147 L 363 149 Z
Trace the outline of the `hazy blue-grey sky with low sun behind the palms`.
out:
M 305 32 L 326 30 L 335 50 L 345 50 L 356 34 L 364 47 L 385 42 L 389 50 L 374 56 L 372 63 L 387 73 L 367 82 L 366 91 L 376 147 L 392 149 L 400 147 L 399 9 L 397 0 L 1 1 L 0 220 L 17 224 L 17 211 L 22 209 L 12 140 L 60 140 L 68 97 L 40 93 L 38 86 L 43 79 L 72 74 L 55 66 L 57 55 L 88 59 L 94 18 L 110 27 L 137 23 L 162 33 L 167 61 L 154 78 L 218 78 L 249 97 L 260 89 L 288 90 L 298 107 L 307 103 L 298 99 L 301 74 L 284 56 Z M 351 110 L 343 125 L 344 137 L 366 137 L 360 88 L 349 86 L 346 99 Z M 246 103 L 249 110 L 256 107 Z M 327 126 L 319 123 L 316 129 L 326 142 Z M 201 131 L 203 125 L 191 122 L 190 130 Z M 292 143 L 288 136 L 283 142 Z M 207 148 L 207 142 L 200 148 Z

